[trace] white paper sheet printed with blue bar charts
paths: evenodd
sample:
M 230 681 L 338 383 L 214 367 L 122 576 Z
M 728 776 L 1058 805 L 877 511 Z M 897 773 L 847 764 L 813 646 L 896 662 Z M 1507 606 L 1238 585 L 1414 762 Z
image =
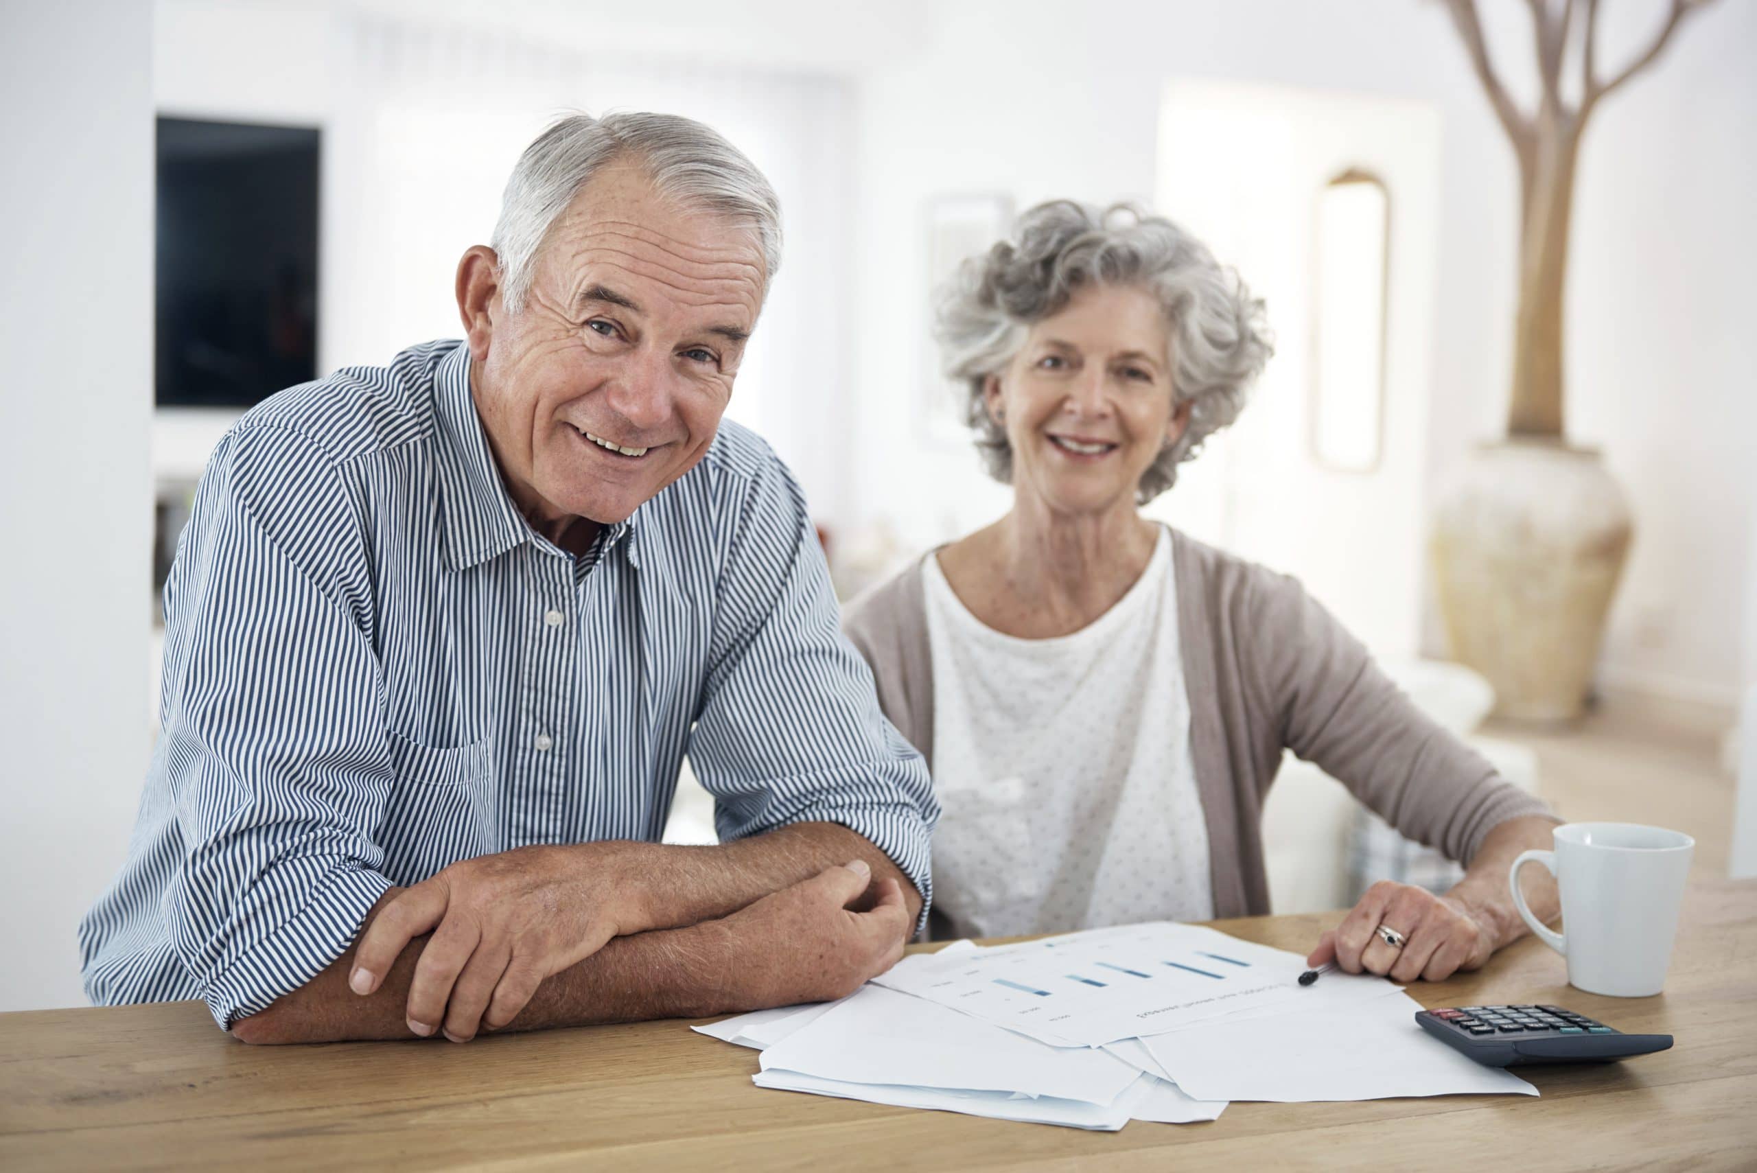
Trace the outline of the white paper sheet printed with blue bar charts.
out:
M 1102 1047 L 1228 1015 L 1311 1013 L 1388 992 L 1383 978 L 1348 973 L 1302 987 L 1304 971 L 1297 954 L 1153 922 L 917 954 L 873 982 L 1059 1047 Z

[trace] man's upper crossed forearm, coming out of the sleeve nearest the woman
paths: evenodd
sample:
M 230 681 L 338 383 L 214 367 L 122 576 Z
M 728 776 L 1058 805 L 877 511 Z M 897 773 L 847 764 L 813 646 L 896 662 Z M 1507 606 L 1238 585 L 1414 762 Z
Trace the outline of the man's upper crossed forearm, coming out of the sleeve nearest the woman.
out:
M 921 917 L 921 892 L 866 836 L 842 824 L 805 822 L 717 846 L 629 845 L 638 867 L 641 911 L 636 927 L 669 929 L 727 917 L 770 892 L 852 859 L 873 871 L 873 883 L 894 878 L 910 924 Z

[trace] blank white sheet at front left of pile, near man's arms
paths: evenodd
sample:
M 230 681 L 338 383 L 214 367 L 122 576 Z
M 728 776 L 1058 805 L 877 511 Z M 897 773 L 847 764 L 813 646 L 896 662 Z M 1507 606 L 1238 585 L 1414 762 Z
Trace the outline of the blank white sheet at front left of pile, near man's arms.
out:
M 763 1069 L 845 1083 L 1024 1092 L 1114 1103 L 1140 1069 L 1093 1048 L 1054 1048 L 877 985 L 763 1052 Z

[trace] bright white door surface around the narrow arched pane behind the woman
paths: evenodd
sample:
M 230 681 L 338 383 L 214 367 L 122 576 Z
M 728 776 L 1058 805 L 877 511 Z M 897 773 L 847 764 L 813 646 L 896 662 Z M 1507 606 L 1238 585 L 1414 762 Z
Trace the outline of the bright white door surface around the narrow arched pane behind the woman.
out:
M 1233 155 L 1237 142 L 1256 146 Z M 1439 142 L 1428 104 L 1385 95 L 1177 81 L 1160 114 L 1156 205 L 1249 274 L 1251 293 L 1274 307 L 1277 356 L 1251 409 L 1147 513 L 1297 569 L 1369 648 L 1399 658 L 1421 644 Z M 1228 165 L 1214 167 L 1216 155 Z M 1377 176 L 1388 193 L 1381 443 L 1370 471 L 1325 467 L 1312 441 L 1318 320 L 1335 313 L 1318 302 L 1316 197 L 1348 169 Z

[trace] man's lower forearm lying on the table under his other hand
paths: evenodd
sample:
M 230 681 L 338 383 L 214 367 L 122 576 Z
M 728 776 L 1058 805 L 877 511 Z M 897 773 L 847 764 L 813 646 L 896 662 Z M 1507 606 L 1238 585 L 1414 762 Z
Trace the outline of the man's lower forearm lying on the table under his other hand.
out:
M 406 1013 L 415 962 L 425 936 L 409 941 L 371 996 L 348 989 L 353 946 L 302 989 L 249 1018 L 232 1024 L 248 1043 L 334 1043 L 343 1040 L 416 1038 Z M 643 1018 L 699 1018 L 754 1010 L 763 1001 L 736 941 L 720 922 L 615 938 L 571 969 L 538 987 L 504 1031 L 538 1031 Z

